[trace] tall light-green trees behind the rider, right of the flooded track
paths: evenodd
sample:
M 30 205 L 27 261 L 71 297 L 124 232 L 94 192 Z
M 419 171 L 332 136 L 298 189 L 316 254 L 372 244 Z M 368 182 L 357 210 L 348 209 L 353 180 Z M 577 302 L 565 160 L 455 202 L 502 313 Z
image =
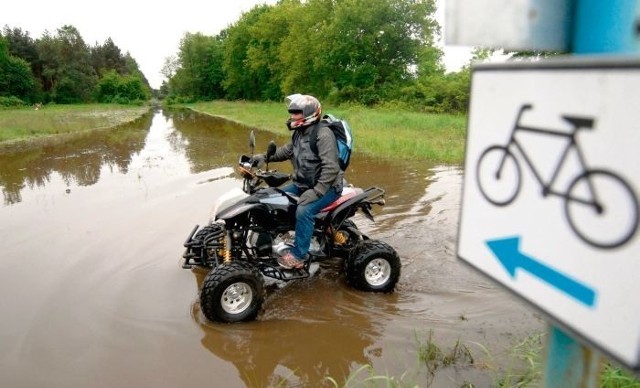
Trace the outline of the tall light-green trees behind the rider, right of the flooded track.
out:
M 397 104 L 464 112 L 469 68 L 446 73 L 435 0 L 281 0 L 258 5 L 215 36 L 187 33 L 165 59 L 170 102 Z

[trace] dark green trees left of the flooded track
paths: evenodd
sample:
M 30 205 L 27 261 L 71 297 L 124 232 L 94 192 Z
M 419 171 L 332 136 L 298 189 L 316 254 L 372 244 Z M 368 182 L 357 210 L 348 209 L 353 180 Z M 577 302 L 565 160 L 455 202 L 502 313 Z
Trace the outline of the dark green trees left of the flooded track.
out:
M 28 31 L 0 32 L 0 106 L 32 103 L 140 103 L 151 87 L 137 62 L 108 38 L 87 45 L 70 25 L 32 39 Z

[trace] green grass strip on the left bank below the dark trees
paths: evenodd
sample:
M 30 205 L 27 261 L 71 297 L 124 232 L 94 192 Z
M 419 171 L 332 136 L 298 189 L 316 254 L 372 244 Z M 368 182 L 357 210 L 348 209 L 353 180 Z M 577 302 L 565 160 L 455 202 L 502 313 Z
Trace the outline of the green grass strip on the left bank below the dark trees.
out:
M 0 144 L 43 136 L 112 128 L 149 111 L 147 106 L 91 104 L 47 105 L 0 110 Z

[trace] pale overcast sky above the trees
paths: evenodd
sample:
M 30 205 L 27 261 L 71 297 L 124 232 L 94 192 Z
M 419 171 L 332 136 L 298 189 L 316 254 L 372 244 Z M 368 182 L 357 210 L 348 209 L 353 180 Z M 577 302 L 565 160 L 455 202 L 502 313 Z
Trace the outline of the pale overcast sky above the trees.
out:
M 444 0 L 438 0 L 441 4 Z M 63 25 L 78 29 L 85 43 L 103 44 L 109 37 L 138 62 L 151 87 L 159 88 L 164 59 L 176 55 L 180 39 L 186 32 L 217 35 L 236 22 L 243 12 L 256 4 L 275 4 L 276 0 L 180 0 L 175 3 L 109 0 L 105 2 L 77 0 L 5 1 L 0 11 L 0 27 L 21 28 L 33 39 L 45 30 L 55 34 Z M 442 8 L 442 7 L 440 7 Z M 436 15 L 442 26 L 444 12 Z M 469 60 L 466 47 L 446 47 L 445 65 L 458 70 Z

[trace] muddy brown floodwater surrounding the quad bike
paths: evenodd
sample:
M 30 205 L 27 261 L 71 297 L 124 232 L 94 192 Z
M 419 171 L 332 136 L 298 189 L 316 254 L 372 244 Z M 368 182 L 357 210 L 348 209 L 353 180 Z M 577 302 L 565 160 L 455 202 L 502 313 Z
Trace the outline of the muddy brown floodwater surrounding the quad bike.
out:
M 257 149 L 273 137 L 256 131 Z M 205 274 L 181 268 L 182 243 L 240 187 L 233 166 L 248 138 L 220 119 L 158 111 L 1 154 L 0 386 L 342 386 L 371 365 L 407 386 L 483 387 L 518 368 L 510 349 L 543 321 L 456 258 L 455 166 L 352 159 L 352 184 L 386 190 L 376 222 L 356 222 L 400 254 L 395 293 L 354 291 L 327 263 L 271 289 L 255 322 L 207 322 Z M 459 341 L 473 363 L 427 367 L 429 338 L 445 353 Z

